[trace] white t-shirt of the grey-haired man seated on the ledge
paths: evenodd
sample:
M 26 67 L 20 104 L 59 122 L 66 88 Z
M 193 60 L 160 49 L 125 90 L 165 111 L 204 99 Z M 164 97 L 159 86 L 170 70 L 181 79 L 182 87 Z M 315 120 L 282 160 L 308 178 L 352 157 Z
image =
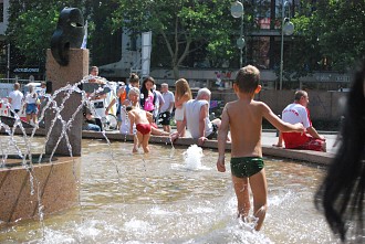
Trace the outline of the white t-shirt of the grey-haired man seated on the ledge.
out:
M 191 134 L 191 137 L 195 139 L 200 137 L 199 114 L 200 114 L 200 108 L 205 105 L 208 105 L 208 108 L 209 108 L 208 100 L 191 99 L 191 100 L 188 100 L 185 105 L 186 124 L 187 124 L 189 132 Z M 206 123 L 206 135 L 205 136 L 208 137 L 213 130 L 209 116 L 207 116 L 205 118 L 205 123 Z

